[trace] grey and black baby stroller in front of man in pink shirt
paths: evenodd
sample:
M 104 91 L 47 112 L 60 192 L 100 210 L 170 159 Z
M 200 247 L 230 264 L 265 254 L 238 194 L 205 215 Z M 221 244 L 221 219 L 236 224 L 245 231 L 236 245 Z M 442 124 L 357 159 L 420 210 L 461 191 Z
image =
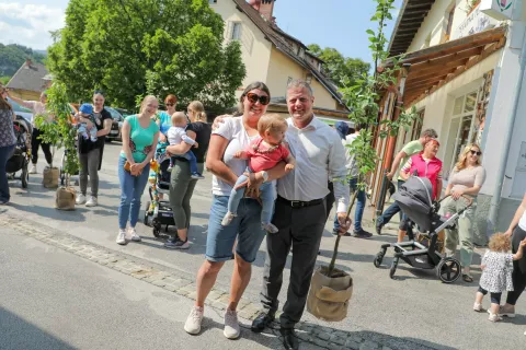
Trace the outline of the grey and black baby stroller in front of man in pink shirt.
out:
M 436 275 L 445 283 L 453 283 L 461 276 L 460 262 L 454 257 L 447 257 L 437 249 L 438 232 L 444 229 L 450 229 L 456 224 L 459 215 L 464 213 L 472 203 L 472 199 L 462 196 L 467 200 L 467 206 L 458 213 L 449 218 L 441 217 L 438 210 L 441 201 L 432 201 L 433 188 L 426 177 L 413 176 L 409 178 L 395 195 L 395 200 L 409 217 L 409 219 L 420 228 L 420 232 L 428 232 L 430 242 L 425 246 L 414 241 L 412 224 L 408 229 L 410 242 L 384 244 L 381 250 L 375 256 L 375 267 L 380 267 L 387 248 L 395 249 L 395 259 L 391 264 L 389 277 L 393 278 L 400 259 L 410 266 L 421 269 L 436 268 Z

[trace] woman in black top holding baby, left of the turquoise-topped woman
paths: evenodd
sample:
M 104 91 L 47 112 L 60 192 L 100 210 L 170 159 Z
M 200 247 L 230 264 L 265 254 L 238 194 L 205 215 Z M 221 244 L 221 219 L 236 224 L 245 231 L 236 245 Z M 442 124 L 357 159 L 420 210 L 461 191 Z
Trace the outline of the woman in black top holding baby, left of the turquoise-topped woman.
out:
M 105 136 L 112 130 L 113 124 L 112 115 L 104 109 L 104 95 L 96 91 L 93 94 L 92 119 L 80 115 L 76 116 L 77 122 L 85 122 L 88 129 L 96 128 L 96 141 L 82 137 L 79 137 L 78 140 L 80 195 L 77 197 L 77 205 L 79 206 L 85 203 L 85 207 L 95 207 L 99 203 L 99 168 L 102 149 L 104 148 Z M 92 120 L 95 122 L 92 122 Z M 90 199 L 87 200 L 88 174 L 90 175 L 91 194 Z

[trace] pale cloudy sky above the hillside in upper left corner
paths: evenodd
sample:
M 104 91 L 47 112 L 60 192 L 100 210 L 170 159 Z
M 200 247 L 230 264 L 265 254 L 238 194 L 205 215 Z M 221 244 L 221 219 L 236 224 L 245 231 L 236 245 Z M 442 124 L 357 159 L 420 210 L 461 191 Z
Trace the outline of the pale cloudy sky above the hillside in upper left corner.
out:
M 49 31 L 64 27 L 65 19 L 58 7 L 0 2 L 0 43 L 46 49 L 53 44 Z

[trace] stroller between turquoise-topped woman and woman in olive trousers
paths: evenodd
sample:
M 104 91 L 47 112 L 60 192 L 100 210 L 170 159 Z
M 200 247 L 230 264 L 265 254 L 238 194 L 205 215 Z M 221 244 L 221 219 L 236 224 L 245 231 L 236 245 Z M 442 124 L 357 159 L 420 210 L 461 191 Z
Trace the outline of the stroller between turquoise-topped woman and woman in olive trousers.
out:
M 151 225 L 153 228 L 153 235 L 159 237 L 161 228 L 175 225 L 173 219 L 173 211 L 170 207 L 170 173 L 168 167 L 170 165 L 170 159 L 165 156 L 165 148 L 159 148 L 156 151 L 156 159 L 150 164 L 149 176 L 149 194 L 150 201 L 145 206 L 145 225 Z M 159 194 L 163 195 L 163 199 L 159 199 Z

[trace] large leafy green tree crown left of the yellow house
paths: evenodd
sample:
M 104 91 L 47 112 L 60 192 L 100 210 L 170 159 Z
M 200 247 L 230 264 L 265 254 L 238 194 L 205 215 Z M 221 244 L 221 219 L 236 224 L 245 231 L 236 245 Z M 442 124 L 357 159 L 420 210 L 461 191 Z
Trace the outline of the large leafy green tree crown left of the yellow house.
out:
M 93 89 L 134 108 L 136 96 L 174 93 L 209 109 L 235 104 L 245 69 L 237 42 L 207 0 L 71 0 L 66 26 L 53 33 L 50 71 L 71 97 Z

